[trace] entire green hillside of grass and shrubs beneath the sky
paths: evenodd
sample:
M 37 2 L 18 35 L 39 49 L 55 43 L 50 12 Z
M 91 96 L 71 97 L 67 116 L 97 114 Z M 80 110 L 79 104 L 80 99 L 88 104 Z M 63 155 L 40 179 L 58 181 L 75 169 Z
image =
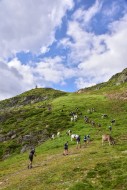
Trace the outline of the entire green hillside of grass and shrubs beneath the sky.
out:
M 114 85 L 110 80 L 101 88 L 75 93 L 37 88 L 1 101 L 0 189 L 126 189 L 126 95 L 126 81 Z M 71 112 L 78 114 L 77 121 L 71 122 Z M 108 117 L 103 118 L 103 114 Z M 84 116 L 95 125 L 85 122 Z M 113 119 L 116 122 L 109 131 Z M 77 149 L 76 142 L 66 135 L 68 129 L 81 136 L 81 148 Z M 51 134 L 57 131 L 61 136 L 51 140 Z M 105 133 L 115 139 L 115 146 L 101 145 Z M 84 146 L 83 138 L 87 134 L 91 141 Z M 66 141 L 69 155 L 63 156 Z M 36 147 L 37 156 L 33 168 L 28 170 L 31 146 Z

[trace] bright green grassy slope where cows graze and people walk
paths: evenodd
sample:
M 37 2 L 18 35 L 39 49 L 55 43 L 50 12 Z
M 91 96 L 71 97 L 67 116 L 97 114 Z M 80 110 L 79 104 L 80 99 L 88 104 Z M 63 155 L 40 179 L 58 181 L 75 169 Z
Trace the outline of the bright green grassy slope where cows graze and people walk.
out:
M 2 161 L 0 163 L 1 189 L 126 189 L 127 186 L 127 102 L 109 100 L 105 93 L 69 94 L 59 97 L 52 102 L 54 119 L 62 119 L 61 123 L 52 120 L 52 125 L 62 131 L 62 136 L 54 141 L 48 140 L 36 148 L 37 157 L 34 158 L 33 169 L 27 169 L 28 152 Z M 64 108 L 63 108 L 64 105 Z M 71 123 L 68 113 L 76 108 L 89 116 L 96 123 L 101 123 L 101 131 L 84 123 L 83 116 L 77 122 Z M 88 108 L 95 108 L 96 112 L 87 113 Z M 63 109 L 63 112 L 59 110 Z M 101 114 L 108 114 L 102 119 Z M 109 133 L 110 120 L 115 118 L 112 136 L 116 139 L 115 147 L 105 144 L 101 146 L 101 135 Z M 67 120 L 65 123 L 64 120 Z M 60 120 L 59 120 L 60 121 Z M 82 147 L 76 149 L 75 142 L 66 136 L 66 126 L 81 135 Z M 61 126 L 62 128 L 61 128 Z M 91 143 L 83 146 L 84 134 L 90 134 Z M 69 141 L 69 155 L 63 156 L 63 144 Z

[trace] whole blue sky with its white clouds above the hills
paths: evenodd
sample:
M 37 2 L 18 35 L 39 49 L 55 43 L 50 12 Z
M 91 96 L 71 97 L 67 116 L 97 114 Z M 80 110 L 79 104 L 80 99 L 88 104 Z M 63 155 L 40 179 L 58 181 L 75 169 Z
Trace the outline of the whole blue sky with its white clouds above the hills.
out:
M 127 0 L 1 0 L 0 100 L 74 92 L 127 67 Z

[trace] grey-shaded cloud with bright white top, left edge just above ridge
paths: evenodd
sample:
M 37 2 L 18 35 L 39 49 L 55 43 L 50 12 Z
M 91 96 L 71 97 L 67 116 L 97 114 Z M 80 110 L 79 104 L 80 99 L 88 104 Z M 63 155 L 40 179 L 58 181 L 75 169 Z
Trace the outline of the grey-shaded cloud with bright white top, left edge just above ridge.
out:
M 0 99 L 10 98 L 34 87 L 29 66 L 14 59 L 8 64 L 0 62 Z

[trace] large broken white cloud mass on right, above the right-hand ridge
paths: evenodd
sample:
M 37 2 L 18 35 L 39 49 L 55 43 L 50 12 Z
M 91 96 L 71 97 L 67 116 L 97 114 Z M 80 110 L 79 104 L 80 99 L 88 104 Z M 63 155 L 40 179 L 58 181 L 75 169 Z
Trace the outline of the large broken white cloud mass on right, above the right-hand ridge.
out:
M 68 24 L 68 38 L 61 41 L 61 44 L 64 46 L 66 44 L 70 48 L 69 62 L 77 67 L 78 75 L 75 80 L 77 88 L 107 81 L 112 75 L 126 68 L 127 14 L 121 16 L 119 20 L 109 22 L 108 32 L 99 35 L 88 31 L 87 25 L 91 26 L 92 16 L 101 11 L 100 8 L 96 3 L 93 9 L 91 8 L 94 10 L 93 13 L 90 11 L 91 14 L 89 10 L 88 13 L 87 10 L 77 11 L 77 16 L 75 13 L 73 20 Z M 118 11 L 114 4 L 113 9 L 114 12 Z M 86 18 L 82 19 L 87 14 L 90 14 L 87 19 L 89 23 L 86 22 Z

